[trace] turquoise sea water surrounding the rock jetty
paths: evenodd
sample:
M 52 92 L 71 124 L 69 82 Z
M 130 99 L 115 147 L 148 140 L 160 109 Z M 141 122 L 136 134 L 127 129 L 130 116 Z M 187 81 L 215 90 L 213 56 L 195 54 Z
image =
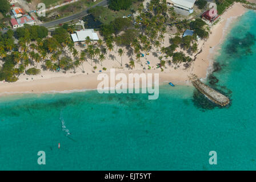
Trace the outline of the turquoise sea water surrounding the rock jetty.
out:
M 97 91 L 1 97 L 0 169 L 255 170 L 255 30 L 249 11 L 216 57 L 221 69 L 208 82 L 231 98 L 222 109 L 190 86 L 161 86 L 158 100 Z

